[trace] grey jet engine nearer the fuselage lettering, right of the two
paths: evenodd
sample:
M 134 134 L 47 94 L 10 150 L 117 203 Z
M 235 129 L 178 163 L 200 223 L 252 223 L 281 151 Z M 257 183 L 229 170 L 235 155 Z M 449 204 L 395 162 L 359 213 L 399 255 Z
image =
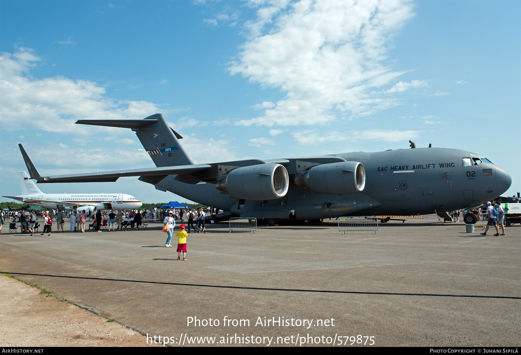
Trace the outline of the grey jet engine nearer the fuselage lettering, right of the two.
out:
M 357 161 L 320 164 L 295 176 L 295 185 L 317 194 L 356 194 L 365 187 L 365 169 Z

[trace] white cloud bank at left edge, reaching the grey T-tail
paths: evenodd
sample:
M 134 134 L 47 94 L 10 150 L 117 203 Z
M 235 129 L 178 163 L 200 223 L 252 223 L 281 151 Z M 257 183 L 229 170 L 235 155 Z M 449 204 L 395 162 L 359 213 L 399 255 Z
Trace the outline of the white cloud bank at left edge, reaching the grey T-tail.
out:
M 0 55 L 0 122 L 3 130 L 36 128 L 95 135 L 98 128 L 83 126 L 80 130 L 75 122 L 79 119 L 144 118 L 166 112 L 158 104 L 144 100 L 107 97 L 103 86 L 89 80 L 32 77 L 31 69 L 41 62 L 30 48 L 20 47 L 13 54 Z

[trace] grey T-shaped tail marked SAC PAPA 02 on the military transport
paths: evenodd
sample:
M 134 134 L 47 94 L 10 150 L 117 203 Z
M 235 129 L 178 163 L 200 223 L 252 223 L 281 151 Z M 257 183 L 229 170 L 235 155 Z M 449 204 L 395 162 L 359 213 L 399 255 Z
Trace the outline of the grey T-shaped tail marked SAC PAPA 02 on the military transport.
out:
M 142 120 L 79 120 L 76 123 L 130 128 L 158 168 L 193 165 L 192 159 L 179 143 L 182 137 L 170 128 L 160 113 Z

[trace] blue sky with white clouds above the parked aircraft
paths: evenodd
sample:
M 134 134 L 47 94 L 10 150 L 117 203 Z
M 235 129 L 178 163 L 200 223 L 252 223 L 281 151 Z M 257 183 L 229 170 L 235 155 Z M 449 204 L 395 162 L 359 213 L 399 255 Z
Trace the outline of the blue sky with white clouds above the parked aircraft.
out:
M 2 195 L 20 194 L 18 143 L 42 174 L 152 167 L 130 130 L 73 122 L 156 112 L 197 163 L 412 139 L 485 155 L 521 190 L 521 2 L 0 6 Z M 137 178 L 39 186 L 185 200 Z

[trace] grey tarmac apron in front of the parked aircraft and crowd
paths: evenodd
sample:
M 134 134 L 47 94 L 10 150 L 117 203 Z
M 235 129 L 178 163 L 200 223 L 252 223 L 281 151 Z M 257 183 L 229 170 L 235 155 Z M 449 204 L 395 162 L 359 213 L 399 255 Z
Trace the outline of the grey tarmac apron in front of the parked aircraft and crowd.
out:
M 259 226 L 256 234 L 230 234 L 227 223 L 207 224 L 206 234 L 188 235 L 187 261 L 177 260 L 176 247 L 163 246 L 166 233 L 159 223 L 140 231 L 65 232 L 50 237 L 2 233 L 0 260 L 3 272 L 242 287 L 521 296 L 521 226 L 508 227 L 506 236 L 494 237 L 491 231 L 480 236 L 481 227 L 467 234 L 464 224 L 437 222 L 436 216 L 390 221 L 379 224 L 376 234 L 345 235 L 334 221 Z M 174 238 L 172 245 L 176 242 Z M 201 336 L 215 337 L 213 346 L 219 342 L 230 346 L 230 341 L 233 346 L 237 341 L 237 346 L 251 346 L 252 341 L 255 346 L 349 346 L 352 341 L 352 346 L 369 346 L 370 339 L 374 346 L 518 346 L 521 341 L 519 299 L 15 276 L 43 284 L 60 298 L 90 306 L 143 334 L 162 340 L 166 336 L 175 346 L 193 342 L 202 346 L 202 340 L 207 345 L 208 338 L 194 338 Z M 219 325 L 210 326 L 208 321 L 187 325 L 189 317 L 211 318 Z M 285 322 L 264 325 L 265 320 L 279 317 L 289 326 L 282 326 Z M 249 320 L 249 326 L 245 321 L 234 326 L 233 320 Z

